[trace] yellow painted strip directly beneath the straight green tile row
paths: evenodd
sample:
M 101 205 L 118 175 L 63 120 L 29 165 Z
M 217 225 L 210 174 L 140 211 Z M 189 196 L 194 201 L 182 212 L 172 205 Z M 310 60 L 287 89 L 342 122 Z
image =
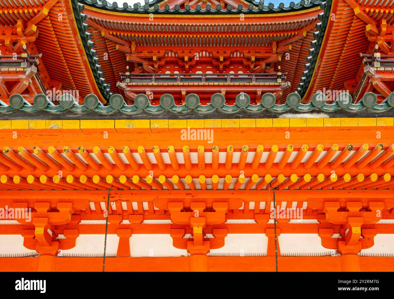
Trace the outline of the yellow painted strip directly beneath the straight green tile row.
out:
M 393 117 L 246 118 L 246 119 L 59 119 L 1 120 L 0 130 L 74 129 L 82 132 L 171 132 L 182 128 L 222 131 L 391 129 Z

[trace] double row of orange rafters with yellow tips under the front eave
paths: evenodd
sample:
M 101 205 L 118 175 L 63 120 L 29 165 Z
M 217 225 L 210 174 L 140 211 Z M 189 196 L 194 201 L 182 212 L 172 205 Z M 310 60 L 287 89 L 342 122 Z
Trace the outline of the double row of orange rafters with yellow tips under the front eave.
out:
M 12 178 L 2 176 L 0 187 L 3 189 L 115 187 L 126 190 L 130 187 L 132 189 L 142 187 L 148 190 L 152 187 L 159 190 L 165 187 L 172 190 L 175 187 L 183 190 L 186 182 L 188 189 L 195 189 L 197 183 L 198 189 L 204 190 L 207 188 L 206 179 L 214 190 L 218 188 L 219 183 L 223 186 L 220 189 L 225 190 L 229 189 L 231 183 L 233 183 L 232 189 L 236 190 L 241 186 L 247 190 L 251 188 L 260 190 L 266 186 L 278 187 L 279 190 L 284 188 L 290 190 L 393 189 L 394 187 L 394 181 L 387 172 L 394 165 L 394 144 L 388 145 L 385 150 L 382 143 L 372 149 L 369 149 L 366 143 L 358 149 L 351 144 L 343 148 L 333 144 L 327 149 L 324 149 L 322 144 L 318 144 L 311 150 L 307 144 L 300 147 L 289 144 L 281 150 L 278 145 L 272 145 L 265 154 L 263 145 L 257 145 L 256 149 L 251 149 L 250 152 L 248 145 L 243 145 L 240 151 L 234 151 L 232 145 L 227 146 L 225 151 L 222 149 L 222 152 L 217 145 L 209 151 L 206 151 L 202 145 L 197 149 L 190 149 L 189 146 L 184 145 L 182 152 L 177 152 L 177 149 L 170 145 L 160 150 L 160 147 L 155 145 L 148 154 L 143 146 L 138 146 L 134 153 L 135 149 L 130 150 L 128 146 L 123 146 L 119 152 L 110 146 L 108 149 L 102 149 L 104 154 L 97 146 L 93 147 L 91 153 L 83 146 L 78 147 L 77 152 L 73 152 L 68 146 L 64 146 L 61 150 L 50 146 L 46 153 L 38 146 L 33 147 L 32 152 L 24 147 L 14 151 L 6 146 L 0 156 L 1 167 L 3 171 L 14 176 Z M 238 158 L 234 158 L 234 155 Z M 171 164 L 165 161 L 170 161 Z M 167 171 L 171 170 L 177 174 L 172 178 L 166 177 Z M 65 178 L 59 178 L 58 171 L 61 171 Z M 152 171 L 155 176 L 148 174 L 145 178 L 143 174 L 147 171 Z M 201 171 L 204 171 L 204 174 L 199 175 Z M 240 171 L 242 173 L 238 175 Z M 301 175 L 305 172 L 307 173 Z M 50 178 L 47 177 L 48 175 Z M 80 179 L 75 180 L 74 176 Z

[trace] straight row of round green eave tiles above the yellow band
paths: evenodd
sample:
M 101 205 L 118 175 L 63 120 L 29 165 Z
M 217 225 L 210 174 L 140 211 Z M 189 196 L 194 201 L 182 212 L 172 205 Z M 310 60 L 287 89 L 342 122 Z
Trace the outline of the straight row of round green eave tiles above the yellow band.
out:
M 311 101 L 307 104 L 301 103 L 299 94 L 293 92 L 286 98 L 286 103 L 275 104 L 275 95 L 266 93 L 262 95 L 261 103 L 254 105 L 250 103 L 249 95 L 240 93 L 236 97 L 234 105 L 225 104 L 225 96 L 220 93 L 213 94 L 211 101 L 207 105 L 201 105 L 200 99 L 196 94 L 186 96 L 185 104 L 175 105 L 174 97 L 170 94 L 164 94 L 160 97 L 160 105 L 151 105 L 149 98 L 145 94 L 138 94 L 134 99 L 133 105 L 127 105 L 122 95 L 113 94 L 109 99 L 110 105 L 102 105 L 94 94 L 86 95 L 84 103 L 80 105 L 71 94 L 63 94 L 59 99 L 59 105 L 54 105 L 44 94 L 38 94 L 33 99 L 33 105 L 25 101 L 20 94 L 13 94 L 9 98 L 9 105 L 0 101 L 0 113 L 13 113 L 19 110 L 23 112 L 39 112 L 46 111 L 49 113 L 60 114 L 72 111 L 77 114 L 85 114 L 88 112 L 98 112 L 100 114 L 109 115 L 117 111 L 127 115 L 136 115 L 143 111 L 150 114 L 162 114 L 170 111 L 175 114 L 184 114 L 188 112 L 197 112 L 199 114 L 208 114 L 219 111 L 225 114 L 234 114 L 245 110 L 250 113 L 258 113 L 264 110 L 282 113 L 289 110 L 297 112 L 310 112 L 312 110 L 320 110 L 323 112 L 335 112 L 345 110 L 348 112 L 361 112 L 368 110 L 372 112 L 387 112 L 394 107 L 394 92 L 381 103 L 377 103 L 377 95 L 368 92 L 357 103 L 353 104 L 351 95 L 348 93 L 339 94 L 333 103 L 327 103 L 326 96 L 322 93 L 316 93 L 312 96 Z

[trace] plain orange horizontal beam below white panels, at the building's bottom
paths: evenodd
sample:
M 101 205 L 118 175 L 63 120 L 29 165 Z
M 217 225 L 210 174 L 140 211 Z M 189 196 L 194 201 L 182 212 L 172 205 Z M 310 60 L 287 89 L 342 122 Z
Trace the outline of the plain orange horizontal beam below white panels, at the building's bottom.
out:
M 190 257 L 107 257 L 106 271 L 197 269 Z M 102 257 L 54 257 L 54 271 L 102 271 Z M 275 257 L 205 257 L 206 271 L 275 271 Z M 37 271 L 39 257 L 5 257 L 0 271 Z M 394 257 L 357 257 L 361 271 L 391 271 Z M 279 271 L 344 271 L 343 257 L 278 257 Z M 379 266 L 376 266 L 379 265 Z

